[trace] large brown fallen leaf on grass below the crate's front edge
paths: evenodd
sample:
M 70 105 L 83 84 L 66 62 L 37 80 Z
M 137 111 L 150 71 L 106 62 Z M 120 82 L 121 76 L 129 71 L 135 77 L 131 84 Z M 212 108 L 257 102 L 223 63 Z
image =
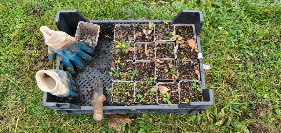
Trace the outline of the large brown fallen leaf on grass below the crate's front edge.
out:
M 112 127 L 113 129 L 123 132 L 121 128 L 119 128 L 120 124 L 130 123 L 131 120 L 128 117 L 124 117 L 117 114 L 111 114 L 111 119 L 108 121 L 108 128 Z

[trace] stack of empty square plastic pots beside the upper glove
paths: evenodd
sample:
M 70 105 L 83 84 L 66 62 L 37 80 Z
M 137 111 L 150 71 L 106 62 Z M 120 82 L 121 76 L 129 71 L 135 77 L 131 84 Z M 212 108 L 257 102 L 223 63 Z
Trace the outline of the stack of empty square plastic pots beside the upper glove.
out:
M 78 22 L 75 38 L 86 43 L 93 50 L 97 46 L 99 38 L 100 26 L 88 22 Z

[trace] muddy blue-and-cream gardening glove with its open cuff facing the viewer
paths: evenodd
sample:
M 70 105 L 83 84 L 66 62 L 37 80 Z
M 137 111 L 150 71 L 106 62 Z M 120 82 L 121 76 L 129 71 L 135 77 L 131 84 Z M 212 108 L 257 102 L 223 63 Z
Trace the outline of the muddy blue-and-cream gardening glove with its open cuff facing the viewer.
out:
M 63 70 L 40 70 L 35 78 L 40 90 L 49 92 L 57 97 L 78 98 L 78 94 L 73 92 L 76 88 L 71 74 Z

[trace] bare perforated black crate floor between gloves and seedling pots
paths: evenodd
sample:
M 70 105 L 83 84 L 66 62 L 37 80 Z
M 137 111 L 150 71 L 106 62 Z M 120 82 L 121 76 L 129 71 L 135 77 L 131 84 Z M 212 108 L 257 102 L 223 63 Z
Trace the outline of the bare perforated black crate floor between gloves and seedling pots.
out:
M 90 55 L 93 57 L 91 61 L 80 58 L 86 68 L 72 75 L 76 87 L 75 93 L 78 94 L 78 99 L 68 100 L 65 98 L 64 103 L 71 103 L 79 106 L 92 106 L 91 101 L 93 99 L 93 90 L 96 89 L 95 84 L 98 80 L 101 80 L 103 82 L 104 95 L 107 97 L 104 106 L 114 105 L 111 103 L 111 95 L 106 91 L 106 87 L 111 88 L 112 86 L 112 81 L 108 74 L 112 58 L 112 53 L 110 53 L 112 43 L 109 40 L 110 39 L 107 39 L 105 36 L 99 37 L 94 50 L 95 53 Z M 91 90 L 89 91 L 88 88 Z

